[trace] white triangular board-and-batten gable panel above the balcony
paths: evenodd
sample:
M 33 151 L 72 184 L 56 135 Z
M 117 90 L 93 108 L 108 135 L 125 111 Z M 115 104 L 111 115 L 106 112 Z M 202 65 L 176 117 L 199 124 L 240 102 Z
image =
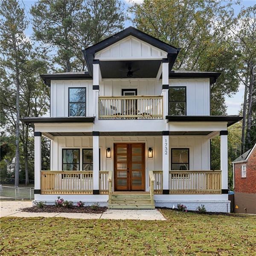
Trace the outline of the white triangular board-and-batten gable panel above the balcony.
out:
M 99 60 L 138 60 L 167 58 L 167 52 L 158 49 L 134 36 L 128 36 L 95 53 Z

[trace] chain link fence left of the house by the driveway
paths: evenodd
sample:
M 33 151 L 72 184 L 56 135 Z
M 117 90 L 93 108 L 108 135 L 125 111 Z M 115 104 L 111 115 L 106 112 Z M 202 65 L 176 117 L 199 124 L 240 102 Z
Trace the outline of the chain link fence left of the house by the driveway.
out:
M 34 187 L 21 188 L 17 186 L 3 186 L 0 185 L 1 198 L 13 198 L 13 199 L 34 199 Z

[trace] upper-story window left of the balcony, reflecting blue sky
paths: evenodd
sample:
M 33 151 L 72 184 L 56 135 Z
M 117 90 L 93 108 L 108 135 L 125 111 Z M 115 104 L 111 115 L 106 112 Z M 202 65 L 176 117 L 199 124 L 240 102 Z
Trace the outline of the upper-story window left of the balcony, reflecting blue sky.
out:
M 69 116 L 86 116 L 86 88 L 68 88 Z

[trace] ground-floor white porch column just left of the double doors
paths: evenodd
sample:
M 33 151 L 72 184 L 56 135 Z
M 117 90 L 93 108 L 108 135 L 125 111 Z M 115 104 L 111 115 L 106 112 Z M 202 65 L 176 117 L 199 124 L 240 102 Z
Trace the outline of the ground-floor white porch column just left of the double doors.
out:
M 99 195 L 99 131 L 93 131 L 93 195 Z

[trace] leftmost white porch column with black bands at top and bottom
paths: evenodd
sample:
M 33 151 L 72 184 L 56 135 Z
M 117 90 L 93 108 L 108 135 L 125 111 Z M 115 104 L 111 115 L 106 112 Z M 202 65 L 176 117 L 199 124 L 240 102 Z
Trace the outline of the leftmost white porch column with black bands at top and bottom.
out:
M 41 137 L 40 131 L 34 132 L 34 168 L 35 168 L 35 194 L 41 194 Z

